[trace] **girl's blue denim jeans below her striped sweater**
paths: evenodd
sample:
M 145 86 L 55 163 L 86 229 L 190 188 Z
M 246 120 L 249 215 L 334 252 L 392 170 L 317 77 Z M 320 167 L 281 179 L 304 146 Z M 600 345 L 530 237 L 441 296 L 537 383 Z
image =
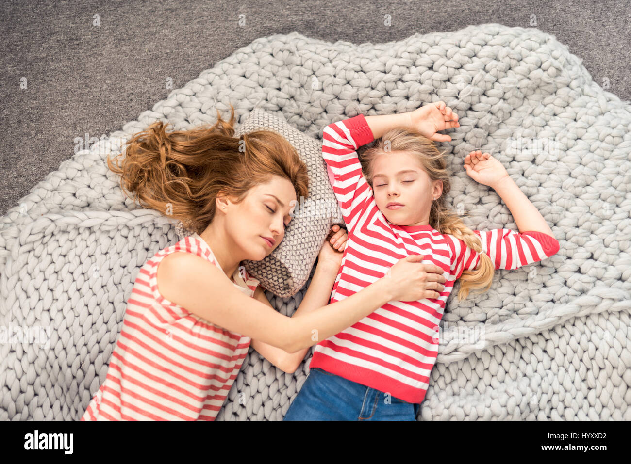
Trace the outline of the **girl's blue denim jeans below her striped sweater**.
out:
M 309 369 L 283 420 L 416 420 L 418 403 L 408 403 L 320 368 Z

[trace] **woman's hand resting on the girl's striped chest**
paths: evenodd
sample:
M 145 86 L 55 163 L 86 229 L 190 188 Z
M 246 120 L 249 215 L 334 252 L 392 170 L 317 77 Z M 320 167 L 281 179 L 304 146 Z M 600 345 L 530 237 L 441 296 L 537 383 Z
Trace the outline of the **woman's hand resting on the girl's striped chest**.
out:
M 401 258 L 382 277 L 392 290 L 393 299 L 416 301 L 423 298 L 439 298 L 440 293 L 445 291 L 443 284 L 447 282 L 447 278 L 442 275 L 444 270 L 435 264 L 421 263 L 422 260 L 422 255 Z

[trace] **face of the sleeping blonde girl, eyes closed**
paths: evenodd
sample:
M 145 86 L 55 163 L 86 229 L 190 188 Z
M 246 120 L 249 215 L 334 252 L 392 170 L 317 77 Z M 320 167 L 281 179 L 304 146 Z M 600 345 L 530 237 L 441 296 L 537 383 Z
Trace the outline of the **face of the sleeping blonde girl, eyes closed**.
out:
M 433 198 L 442 194 L 442 182 L 430 180 L 415 155 L 403 151 L 377 155 L 372 165 L 372 191 L 379 211 L 392 224 L 427 224 Z M 398 203 L 402 206 L 391 206 Z

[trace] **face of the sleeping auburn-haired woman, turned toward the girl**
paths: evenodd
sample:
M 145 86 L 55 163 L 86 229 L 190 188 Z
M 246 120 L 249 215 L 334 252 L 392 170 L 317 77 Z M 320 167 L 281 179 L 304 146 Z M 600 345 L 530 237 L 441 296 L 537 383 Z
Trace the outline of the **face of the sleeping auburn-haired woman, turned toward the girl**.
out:
M 278 247 L 296 203 L 292 183 L 278 176 L 252 187 L 240 203 L 228 200 L 227 230 L 247 259 L 262 260 Z

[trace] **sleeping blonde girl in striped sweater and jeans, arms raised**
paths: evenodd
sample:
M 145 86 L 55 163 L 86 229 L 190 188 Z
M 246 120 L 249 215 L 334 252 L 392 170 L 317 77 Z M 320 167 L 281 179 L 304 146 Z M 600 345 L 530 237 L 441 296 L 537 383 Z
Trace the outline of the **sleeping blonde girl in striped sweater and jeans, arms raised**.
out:
M 541 214 L 489 153 L 464 159 L 469 177 L 493 187 L 519 232 L 467 228 L 445 205 L 450 173 L 433 141 L 459 127 L 438 101 L 397 115 L 358 115 L 324 129 L 322 155 L 348 226 L 331 302 L 346 301 L 415 253 L 438 265 L 447 283 L 413 302 L 389 301 L 320 342 L 309 376 L 285 420 L 415 420 L 437 356 L 435 329 L 454 282 L 458 298 L 487 291 L 495 269 L 516 269 L 558 252 Z M 379 139 L 362 156 L 358 147 Z M 481 292 L 478 292 L 481 293 Z

